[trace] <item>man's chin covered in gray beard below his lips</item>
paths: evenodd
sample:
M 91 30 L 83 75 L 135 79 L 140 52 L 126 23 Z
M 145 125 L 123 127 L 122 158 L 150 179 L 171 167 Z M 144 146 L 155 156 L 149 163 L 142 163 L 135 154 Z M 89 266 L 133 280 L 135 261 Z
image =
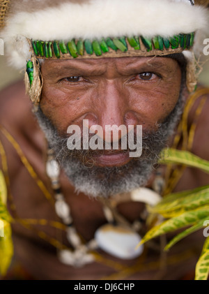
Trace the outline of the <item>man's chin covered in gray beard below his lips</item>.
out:
M 117 161 L 120 166 L 110 163 L 109 159 L 104 159 L 102 166 L 86 166 L 74 158 L 63 161 L 63 170 L 77 192 L 94 198 L 127 193 L 146 184 L 153 166 L 150 162 L 136 161 L 129 156 L 127 163 L 121 158 Z

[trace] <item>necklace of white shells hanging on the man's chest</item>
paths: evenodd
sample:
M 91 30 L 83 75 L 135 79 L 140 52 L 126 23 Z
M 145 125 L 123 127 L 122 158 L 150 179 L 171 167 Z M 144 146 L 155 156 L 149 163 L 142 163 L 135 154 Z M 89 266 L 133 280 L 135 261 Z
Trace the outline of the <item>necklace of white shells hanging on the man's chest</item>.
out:
M 116 206 L 118 203 L 128 200 L 156 205 L 161 199 L 158 193 L 150 189 L 139 188 L 123 196 L 115 196 L 112 200 L 99 198 L 108 223 L 95 231 L 93 240 L 83 244 L 73 224 L 70 206 L 61 193 L 60 168 L 59 163 L 54 158 L 53 149 L 48 149 L 47 152 L 46 172 L 54 191 L 56 214 L 66 225 L 66 237 L 73 248 L 73 250 L 59 250 L 58 257 L 61 263 L 73 267 L 82 267 L 88 263 L 93 263 L 94 256 L 91 251 L 98 248 L 121 259 L 132 259 L 141 255 L 144 250 L 143 245 L 136 249 L 137 244 L 141 241 L 141 237 L 137 233 L 141 223 L 134 221 L 133 224 L 130 224 L 123 216 L 118 214 Z

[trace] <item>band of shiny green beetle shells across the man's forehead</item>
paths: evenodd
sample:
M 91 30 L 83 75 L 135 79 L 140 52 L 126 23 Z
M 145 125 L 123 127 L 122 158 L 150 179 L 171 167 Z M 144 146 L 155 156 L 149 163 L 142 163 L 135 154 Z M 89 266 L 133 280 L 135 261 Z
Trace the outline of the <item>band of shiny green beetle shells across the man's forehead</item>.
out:
M 194 33 L 179 34 L 172 38 L 121 37 L 90 41 L 29 41 L 39 59 L 70 59 L 93 57 L 125 57 L 172 54 L 189 50 L 194 44 Z

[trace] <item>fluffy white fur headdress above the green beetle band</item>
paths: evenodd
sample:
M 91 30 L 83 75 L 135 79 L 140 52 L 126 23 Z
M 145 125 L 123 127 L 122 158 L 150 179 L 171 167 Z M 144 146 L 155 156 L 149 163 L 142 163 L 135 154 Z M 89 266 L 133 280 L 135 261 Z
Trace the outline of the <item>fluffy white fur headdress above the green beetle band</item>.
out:
M 17 68 L 33 54 L 27 39 L 169 38 L 208 26 L 206 9 L 193 0 L 15 0 L 10 6 L 0 36 Z

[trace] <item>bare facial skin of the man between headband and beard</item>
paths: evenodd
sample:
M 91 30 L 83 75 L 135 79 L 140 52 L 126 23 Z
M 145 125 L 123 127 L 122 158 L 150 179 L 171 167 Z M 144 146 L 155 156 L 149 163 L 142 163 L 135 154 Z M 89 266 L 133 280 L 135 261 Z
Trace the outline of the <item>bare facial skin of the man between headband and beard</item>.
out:
M 155 123 L 162 122 L 178 100 L 181 75 L 173 59 L 164 62 L 147 57 L 108 58 L 100 63 L 95 59 L 47 60 L 42 77 L 40 107 L 59 133 L 65 134 L 71 124 L 82 126 L 83 119 L 89 120 L 89 127 L 99 124 L 103 129 L 108 124 L 143 124 L 144 130 L 155 129 Z

